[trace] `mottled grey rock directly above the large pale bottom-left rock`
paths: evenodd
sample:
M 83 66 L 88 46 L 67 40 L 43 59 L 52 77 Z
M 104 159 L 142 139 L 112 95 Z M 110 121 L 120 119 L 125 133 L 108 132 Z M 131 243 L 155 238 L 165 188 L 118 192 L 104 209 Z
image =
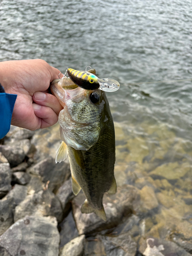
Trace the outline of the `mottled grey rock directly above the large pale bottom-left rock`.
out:
M 26 215 L 55 216 L 62 221 L 62 207 L 59 199 L 50 190 L 40 190 L 29 195 L 15 207 L 14 222 Z

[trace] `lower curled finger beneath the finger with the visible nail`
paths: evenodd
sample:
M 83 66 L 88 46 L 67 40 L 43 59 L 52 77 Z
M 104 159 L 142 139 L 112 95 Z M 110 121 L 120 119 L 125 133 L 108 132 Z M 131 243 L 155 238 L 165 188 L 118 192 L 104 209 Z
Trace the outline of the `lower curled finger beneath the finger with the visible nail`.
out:
M 56 113 L 48 106 L 38 105 L 33 103 L 33 110 L 35 115 L 40 118 L 40 128 L 46 128 L 55 124 L 58 120 Z

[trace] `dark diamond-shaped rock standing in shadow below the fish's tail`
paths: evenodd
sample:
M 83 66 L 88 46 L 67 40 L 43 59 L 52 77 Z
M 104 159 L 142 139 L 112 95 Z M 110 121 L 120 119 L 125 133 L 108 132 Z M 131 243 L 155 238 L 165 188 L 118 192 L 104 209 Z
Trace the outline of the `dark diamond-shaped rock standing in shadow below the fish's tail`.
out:
M 78 237 L 79 234 L 73 219 L 72 211 L 70 211 L 68 216 L 58 225 L 58 229 L 60 231 L 60 247 Z

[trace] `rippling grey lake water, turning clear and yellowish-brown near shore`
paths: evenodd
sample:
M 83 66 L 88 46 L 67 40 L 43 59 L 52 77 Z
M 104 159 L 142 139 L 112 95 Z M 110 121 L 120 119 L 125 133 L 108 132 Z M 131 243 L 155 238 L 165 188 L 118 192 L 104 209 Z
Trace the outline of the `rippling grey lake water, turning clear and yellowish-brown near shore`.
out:
M 0 61 L 41 58 L 62 73 L 91 66 L 120 82 L 108 93 L 115 174 L 118 185 L 153 187 L 159 212 L 149 230 L 167 214 L 191 223 L 192 86 L 163 82 L 192 79 L 191 13 L 189 0 L 0 3 Z

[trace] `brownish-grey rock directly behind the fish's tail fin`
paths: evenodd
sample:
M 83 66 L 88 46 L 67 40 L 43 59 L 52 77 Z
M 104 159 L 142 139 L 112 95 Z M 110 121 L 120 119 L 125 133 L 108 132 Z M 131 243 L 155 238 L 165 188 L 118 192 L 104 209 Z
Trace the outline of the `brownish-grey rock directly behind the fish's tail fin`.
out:
M 139 202 L 138 189 L 131 185 L 123 185 L 117 188 L 115 195 L 104 195 L 103 206 L 106 213 L 106 221 L 100 219 L 94 213 L 82 214 L 80 208 L 84 202 L 83 193 L 79 193 L 72 201 L 73 216 L 79 234 L 88 234 L 117 226 L 123 217 L 130 216 L 137 210 Z

